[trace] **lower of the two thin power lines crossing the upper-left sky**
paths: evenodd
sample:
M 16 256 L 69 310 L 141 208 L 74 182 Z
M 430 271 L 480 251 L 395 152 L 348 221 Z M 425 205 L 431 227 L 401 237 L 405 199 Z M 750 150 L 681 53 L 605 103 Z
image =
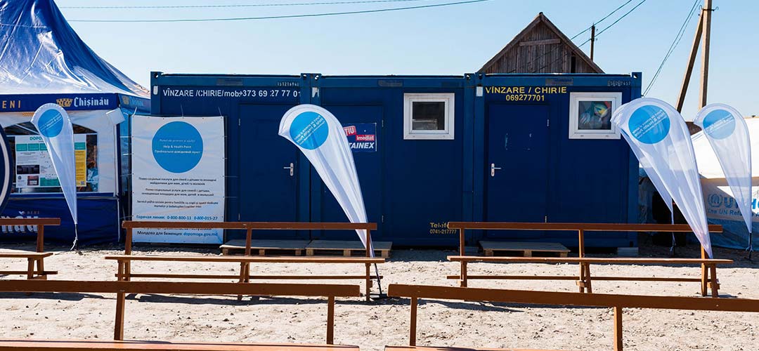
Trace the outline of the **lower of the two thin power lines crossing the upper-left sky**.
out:
M 222 17 L 222 18 L 180 18 L 175 20 L 69 20 L 69 22 L 90 22 L 90 23 L 172 23 L 172 22 L 214 22 L 229 20 L 277 20 L 284 18 L 303 18 L 303 17 L 325 17 L 338 16 L 343 14 L 373 14 L 378 12 L 415 10 L 420 8 L 439 8 L 442 6 L 474 4 L 477 2 L 490 2 L 491 0 L 469 0 L 464 2 L 446 2 L 443 4 L 409 6 L 403 8 L 379 8 L 375 10 L 362 11 L 343 11 L 343 12 L 323 12 L 320 14 L 285 14 L 279 16 L 263 17 Z

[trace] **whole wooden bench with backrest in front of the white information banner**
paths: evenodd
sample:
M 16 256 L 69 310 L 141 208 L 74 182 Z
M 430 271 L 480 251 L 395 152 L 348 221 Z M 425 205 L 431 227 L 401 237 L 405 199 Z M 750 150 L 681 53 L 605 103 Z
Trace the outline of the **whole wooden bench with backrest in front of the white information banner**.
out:
M 367 242 L 371 243 L 371 231 L 376 230 L 376 223 L 329 223 L 329 222 L 154 222 L 154 221 L 124 221 L 121 223 L 121 227 L 127 230 L 125 243 L 124 243 L 124 255 L 131 255 L 132 253 L 132 240 L 133 230 L 140 229 L 225 229 L 225 230 L 245 230 L 245 256 L 250 256 L 251 248 L 250 241 L 253 237 L 253 230 L 366 230 Z M 360 278 L 366 281 L 367 293 L 366 299 L 370 300 L 370 288 L 372 287 L 372 279 L 376 279 L 376 275 L 371 275 L 371 265 L 376 263 L 382 263 L 383 261 L 375 261 L 373 259 L 374 252 L 366 250 L 367 260 L 361 262 L 351 261 L 335 261 L 335 262 L 323 262 L 317 257 L 302 257 L 298 260 L 284 262 L 285 258 L 263 258 L 261 261 L 231 261 L 240 262 L 240 274 L 235 277 L 241 279 L 241 283 L 247 283 L 252 279 L 250 275 L 250 263 L 364 263 L 364 275 Z M 115 256 L 112 256 L 115 257 Z M 148 257 L 148 256 L 143 256 Z M 149 256 L 153 257 L 153 256 Z M 188 257 L 188 256 L 168 256 L 168 257 Z M 196 257 L 196 256 L 189 256 Z M 269 259 L 269 260 L 267 260 Z M 354 259 L 354 258 L 350 258 Z M 165 261 L 172 261 L 171 259 Z M 220 261 L 222 262 L 222 261 Z M 121 269 L 121 268 L 120 268 Z M 131 274 L 131 260 L 124 259 L 124 275 L 129 280 L 129 277 L 140 277 L 140 275 Z M 184 275 L 185 278 L 190 275 L 197 274 L 172 274 L 167 277 L 180 277 Z M 143 277 L 145 277 L 143 275 Z M 216 276 L 217 278 L 226 279 L 228 276 Z M 345 276 L 345 275 L 307 275 L 307 276 L 290 276 L 279 277 L 276 276 L 257 276 L 256 279 L 354 279 L 358 276 Z M 203 276 L 203 279 L 212 278 L 211 276 Z M 380 276 L 379 279 L 382 279 Z M 238 296 L 241 298 L 242 296 Z

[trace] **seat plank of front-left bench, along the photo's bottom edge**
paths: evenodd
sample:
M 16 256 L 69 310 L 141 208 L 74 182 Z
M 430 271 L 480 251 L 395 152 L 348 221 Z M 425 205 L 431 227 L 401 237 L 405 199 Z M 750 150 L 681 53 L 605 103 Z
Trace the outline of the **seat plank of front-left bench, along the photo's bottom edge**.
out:
M 296 343 L 187 343 L 176 341 L 97 341 L 97 340 L 0 340 L 0 350 L 36 349 L 43 351 L 175 350 L 175 351 L 358 351 L 358 346 Z

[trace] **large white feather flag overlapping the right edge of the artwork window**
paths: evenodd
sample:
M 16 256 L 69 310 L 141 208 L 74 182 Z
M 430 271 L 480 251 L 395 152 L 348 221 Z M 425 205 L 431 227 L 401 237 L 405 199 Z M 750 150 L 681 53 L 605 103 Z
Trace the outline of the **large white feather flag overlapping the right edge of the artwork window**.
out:
M 617 109 L 612 123 L 622 130 L 630 148 L 644 158 L 653 174 L 685 216 L 685 221 L 713 258 L 704 196 L 701 192 L 691 134 L 680 113 L 659 99 L 635 99 Z

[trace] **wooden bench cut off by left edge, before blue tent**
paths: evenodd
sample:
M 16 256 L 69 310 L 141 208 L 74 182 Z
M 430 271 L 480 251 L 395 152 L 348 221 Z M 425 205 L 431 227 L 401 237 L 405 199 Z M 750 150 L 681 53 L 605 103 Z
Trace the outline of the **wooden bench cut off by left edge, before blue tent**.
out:
M 37 226 L 36 252 L 0 252 L 0 259 L 27 259 L 26 271 L 0 271 L 0 275 L 26 275 L 27 279 L 47 279 L 58 271 L 45 270 L 45 258 L 52 252 L 45 252 L 45 226 L 61 225 L 61 218 L 0 218 L 0 226 Z M 36 265 L 36 268 L 35 268 Z

